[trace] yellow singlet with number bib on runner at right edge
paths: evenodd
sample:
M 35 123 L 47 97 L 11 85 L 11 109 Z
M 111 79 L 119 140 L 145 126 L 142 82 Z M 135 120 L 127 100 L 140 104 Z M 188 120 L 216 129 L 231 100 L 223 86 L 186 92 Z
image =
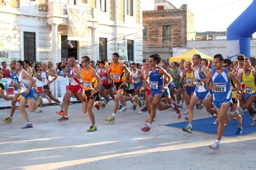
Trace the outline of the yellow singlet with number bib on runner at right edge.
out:
M 248 94 L 256 93 L 256 79 L 253 76 L 252 70 L 249 75 L 245 75 L 245 73 L 243 72 L 243 81 L 245 84 L 244 93 L 248 93 Z

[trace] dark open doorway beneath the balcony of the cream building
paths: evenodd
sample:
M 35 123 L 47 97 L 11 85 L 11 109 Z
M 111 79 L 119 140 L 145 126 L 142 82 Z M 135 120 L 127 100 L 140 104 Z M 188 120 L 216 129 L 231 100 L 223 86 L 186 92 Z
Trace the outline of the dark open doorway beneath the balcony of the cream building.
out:
M 62 35 L 62 58 L 69 58 L 69 56 L 74 56 L 78 59 L 77 42 L 67 40 L 67 36 Z

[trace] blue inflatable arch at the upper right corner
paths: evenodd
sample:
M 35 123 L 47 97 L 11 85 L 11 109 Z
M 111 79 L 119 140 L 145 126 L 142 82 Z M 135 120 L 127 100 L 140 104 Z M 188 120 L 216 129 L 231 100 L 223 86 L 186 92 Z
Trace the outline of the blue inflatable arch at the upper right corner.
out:
M 256 0 L 253 0 L 252 4 L 226 29 L 226 54 L 228 58 L 244 54 L 250 59 L 250 40 L 255 31 Z

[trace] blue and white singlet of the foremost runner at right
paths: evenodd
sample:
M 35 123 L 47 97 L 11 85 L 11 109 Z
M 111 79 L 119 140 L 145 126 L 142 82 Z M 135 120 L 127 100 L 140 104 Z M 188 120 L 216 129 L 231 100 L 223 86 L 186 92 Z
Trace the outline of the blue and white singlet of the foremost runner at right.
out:
M 232 97 L 228 70 L 224 69 L 222 73 L 217 73 L 215 69 L 212 70 L 212 84 L 216 85 L 216 90 L 212 91 L 214 101 L 221 102 Z

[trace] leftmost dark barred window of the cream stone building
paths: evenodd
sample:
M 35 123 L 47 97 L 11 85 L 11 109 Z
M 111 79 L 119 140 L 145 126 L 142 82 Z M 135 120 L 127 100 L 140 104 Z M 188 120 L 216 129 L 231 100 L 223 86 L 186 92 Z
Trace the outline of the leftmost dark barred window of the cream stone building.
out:
M 35 33 L 24 32 L 24 59 L 35 61 Z

